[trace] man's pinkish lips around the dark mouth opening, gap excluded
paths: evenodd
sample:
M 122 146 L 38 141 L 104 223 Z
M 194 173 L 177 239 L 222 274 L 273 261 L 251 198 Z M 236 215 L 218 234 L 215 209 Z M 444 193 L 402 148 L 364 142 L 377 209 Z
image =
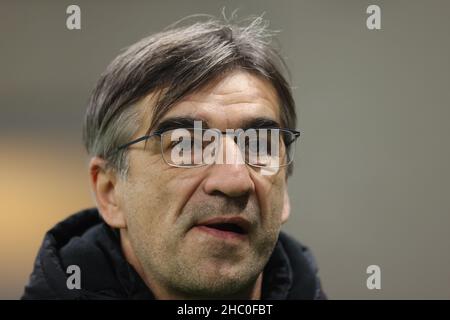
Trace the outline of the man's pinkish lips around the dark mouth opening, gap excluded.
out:
M 239 226 L 244 233 L 237 233 L 233 231 L 219 230 L 214 227 L 210 227 L 210 225 L 214 224 L 235 224 Z M 250 230 L 250 222 L 242 217 L 215 217 L 207 220 L 202 220 L 198 222 L 194 228 L 198 231 L 205 232 L 213 237 L 224 239 L 224 240 L 244 240 L 248 237 L 248 233 Z

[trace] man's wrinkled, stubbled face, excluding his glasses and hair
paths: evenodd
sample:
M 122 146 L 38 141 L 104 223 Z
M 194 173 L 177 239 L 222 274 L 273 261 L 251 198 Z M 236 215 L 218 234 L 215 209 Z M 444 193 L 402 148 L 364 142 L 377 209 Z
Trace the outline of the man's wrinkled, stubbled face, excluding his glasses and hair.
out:
M 160 122 L 188 117 L 225 131 L 257 118 L 280 123 L 279 113 L 270 83 L 235 71 L 183 99 Z M 144 133 L 142 126 L 136 137 Z M 177 168 L 152 144 L 158 145 L 159 138 L 151 138 L 145 149 L 144 143 L 130 148 L 128 178 L 117 185 L 127 233 L 147 279 L 198 297 L 244 290 L 276 243 L 285 169 L 262 175 L 237 162 Z M 239 149 L 228 146 L 226 152 Z M 214 222 L 240 224 L 245 233 L 221 232 Z

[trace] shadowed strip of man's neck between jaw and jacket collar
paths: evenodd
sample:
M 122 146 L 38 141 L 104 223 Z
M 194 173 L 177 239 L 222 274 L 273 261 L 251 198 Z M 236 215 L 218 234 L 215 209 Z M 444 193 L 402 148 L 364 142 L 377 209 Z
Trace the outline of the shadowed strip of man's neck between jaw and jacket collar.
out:
M 169 290 L 165 286 L 161 285 L 156 281 L 156 279 L 151 278 L 144 272 L 139 259 L 134 253 L 133 247 L 131 246 L 130 239 L 128 237 L 127 231 L 125 229 L 120 229 L 120 243 L 122 247 L 122 252 L 127 260 L 127 262 L 133 266 L 142 280 L 145 282 L 147 287 L 152 291 L 153 295 L 158 300 L 188 300 L 188 299 L 249 299 L 249 300 L 260 300 L 261 299 L 261 288 L 262 288 L 262 273 L 259 274 L 258 278 L 252 283 L 251 286 L 245 288 L 244 290 L 237 292 L 236 294 L 230 296 L 222 297 L 193 297 L 187 296 L 183 293 L 174 292 Z

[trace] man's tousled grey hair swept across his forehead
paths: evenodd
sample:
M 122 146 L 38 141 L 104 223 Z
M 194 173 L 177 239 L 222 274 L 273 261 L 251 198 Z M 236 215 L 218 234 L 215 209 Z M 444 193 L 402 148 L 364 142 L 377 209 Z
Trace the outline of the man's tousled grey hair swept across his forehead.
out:
M 150 132 L 176 102 L 235 69 L 267 79 L 281 103 L 282 125 L 295 129 L 295 102 L 284 76 L 288 69 L 271 45 L 273 32 L 267 26 L 262 17 L 246 25 L 210 17 L 177 23 L 128 47 L 109 64 L 89 99 L 83 125 L 89 155 L 105 159 L 125 177 L 126 149 L 116 149 L 132 139 L 143 120 Z M 135 106 L 150 93 L 158 98 L 151 120 L 142 119 Z

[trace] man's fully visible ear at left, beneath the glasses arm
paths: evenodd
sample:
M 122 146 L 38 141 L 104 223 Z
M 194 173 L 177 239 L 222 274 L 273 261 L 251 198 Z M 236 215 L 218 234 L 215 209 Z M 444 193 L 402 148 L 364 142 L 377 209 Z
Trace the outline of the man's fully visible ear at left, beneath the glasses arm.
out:
M 113 228 L 126 228 L 125 215 L 117 198 L 117 174 L 107 168 L 106 160 L 100 157 L 90 160 L 89 179 L 103 220 Z

